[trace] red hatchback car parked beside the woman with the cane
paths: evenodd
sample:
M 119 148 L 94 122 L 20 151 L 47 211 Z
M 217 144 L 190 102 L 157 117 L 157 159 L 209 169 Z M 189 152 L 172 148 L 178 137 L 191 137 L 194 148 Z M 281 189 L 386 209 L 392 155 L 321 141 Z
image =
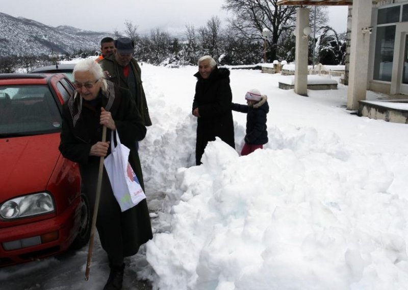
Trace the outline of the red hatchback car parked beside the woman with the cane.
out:
M 88 201 L 58 150 L 63 74 L 0 74 L 0 267 L 85 246 Z

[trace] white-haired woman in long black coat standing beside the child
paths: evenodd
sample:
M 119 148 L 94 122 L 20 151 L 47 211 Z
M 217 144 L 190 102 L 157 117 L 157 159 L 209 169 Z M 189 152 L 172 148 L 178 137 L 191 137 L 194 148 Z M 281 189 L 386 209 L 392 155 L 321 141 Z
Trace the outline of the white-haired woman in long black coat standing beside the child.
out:
M 193 115 L 197 117 L 195 162 L 199 165 L 207 143 L 216 136 L 235 149 L 234 121 L 230 70 L 218 68 L 211 56 L 203 56 L 198 60 L 194 77 L 197 78 L 193 101 Z

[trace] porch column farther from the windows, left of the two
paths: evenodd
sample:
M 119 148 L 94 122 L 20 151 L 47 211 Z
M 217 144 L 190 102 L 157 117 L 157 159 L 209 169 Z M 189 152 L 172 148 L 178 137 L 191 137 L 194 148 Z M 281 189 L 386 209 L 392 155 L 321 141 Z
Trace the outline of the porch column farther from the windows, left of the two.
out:
M 309 8 L 298 8 L 296 12 L 295 50 L 295 93 L 308 95 L 308 53 L 309 36 L 303 36 L 303 29 L 309 26 Z

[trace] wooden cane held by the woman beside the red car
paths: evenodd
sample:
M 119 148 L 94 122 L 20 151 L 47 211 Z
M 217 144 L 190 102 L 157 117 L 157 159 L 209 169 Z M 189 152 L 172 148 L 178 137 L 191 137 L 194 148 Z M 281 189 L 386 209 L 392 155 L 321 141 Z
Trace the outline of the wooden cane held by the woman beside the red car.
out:
M 102 128 L 102 142 L 105 142 L 105 141 L 106 141 L 106 126 L 103 126 L 103 128 Z M 99 160 L 99 173 L 98 173 L 98 181 L 97 181 L 97 184 L 96 184 L 96 197 L 95 197 L 95 207 L 93 209 L 93 216 L 92 216 L 91 235 L 89 237 L 88 257 L 87 257 L 87 260 L 86 260 L 85 281 L 89 280 L 89 268 L 91 267 L 91 258 L 92 258 L 92 250 L 93 250 L 93 238 L 95 236 L 96 217 L 98 215 L 100 188 L 102 187 L 102 175 L 104 173 L 104 160 L 105 160 L 105 157 L 101 156 L 100 160 Z

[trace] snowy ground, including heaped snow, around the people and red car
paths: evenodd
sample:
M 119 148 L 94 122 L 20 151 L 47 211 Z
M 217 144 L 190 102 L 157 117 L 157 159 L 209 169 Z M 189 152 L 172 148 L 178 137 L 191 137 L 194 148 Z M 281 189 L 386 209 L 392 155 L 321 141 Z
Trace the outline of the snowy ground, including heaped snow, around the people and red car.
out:
M 251 88 L 268 95 L 269 142 L 240 157 L 246 116 L 234 112 L 237 150 L 216 140 L 194 166 L 196 70 L 142 66 L 155 236 L 126 259 L 123 288 L 407 288 L 408 126 L 351 114 L 344 85 L 306 98 L 278 89 L 279 75 L 231 70 L 234 102 Z M 101 289 L 109 269 L 96 243 L 90 281 L 85 247 L 0 269 L 0 288 Z

